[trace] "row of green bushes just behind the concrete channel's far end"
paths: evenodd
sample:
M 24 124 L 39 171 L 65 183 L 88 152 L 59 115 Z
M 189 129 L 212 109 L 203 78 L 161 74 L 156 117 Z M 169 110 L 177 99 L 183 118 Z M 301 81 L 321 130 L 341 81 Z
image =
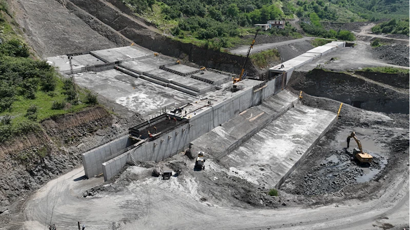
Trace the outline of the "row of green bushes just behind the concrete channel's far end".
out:
M 355 35 L 348 30 L 326 30 L 322 28 L 322 26 L 315 26 L 313 23 L 311 25 L 307 23 L 301 23 L 300 26 L 302 27 L 303 31 L 313 36 L 324 38 L 337 38 L 340 40 L 347 41 L 356 40 Z

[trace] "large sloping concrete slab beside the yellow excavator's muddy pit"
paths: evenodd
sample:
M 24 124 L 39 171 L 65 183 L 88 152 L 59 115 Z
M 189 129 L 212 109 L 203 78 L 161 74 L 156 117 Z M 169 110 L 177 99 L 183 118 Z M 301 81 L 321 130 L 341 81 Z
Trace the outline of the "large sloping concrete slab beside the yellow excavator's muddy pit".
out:
M 297 104 L 221 162 L 233 175 L 278 188 L 336 121 L 336 116 Z

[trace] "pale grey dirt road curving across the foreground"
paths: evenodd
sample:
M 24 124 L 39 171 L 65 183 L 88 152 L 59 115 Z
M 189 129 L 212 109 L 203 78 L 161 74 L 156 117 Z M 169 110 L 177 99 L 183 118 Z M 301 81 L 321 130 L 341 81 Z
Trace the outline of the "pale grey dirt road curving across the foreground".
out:
M 128 170 L 144 174 L 144 168 L 132 166 Z M 22 224 L 24 229 L 44 229 L 50 220 L 58 229 L 73 229 L 77 221 L 85 223 L 87 229 L 374 229 L 384 224 L 408 224 L 406 172 L 381 191 L 380 198 L 367 203 L 350 200 L 337 205 L 275 210 L 201 202 L 198 184 L 189 176 L 169 181 L 141 178 L 124 191 L 88 199 L 82 193 L 103 179 L 82 180 L 83 175 L 83 169 L 77 168 L 48 182 L 26 202 L 27 221 L 12 222 L 8 229 L 21 229 Z

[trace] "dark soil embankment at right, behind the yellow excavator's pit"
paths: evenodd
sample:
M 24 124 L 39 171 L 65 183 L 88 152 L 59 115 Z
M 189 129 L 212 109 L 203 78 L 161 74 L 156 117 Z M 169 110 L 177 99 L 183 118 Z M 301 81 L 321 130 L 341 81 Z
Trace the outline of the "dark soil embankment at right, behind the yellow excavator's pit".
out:
M 365 110 L 408 114 L 408 95 L 347 73 L 314 69 L 295 72 L 290 85 L 295 90 L 318 97 L 338 100 Z

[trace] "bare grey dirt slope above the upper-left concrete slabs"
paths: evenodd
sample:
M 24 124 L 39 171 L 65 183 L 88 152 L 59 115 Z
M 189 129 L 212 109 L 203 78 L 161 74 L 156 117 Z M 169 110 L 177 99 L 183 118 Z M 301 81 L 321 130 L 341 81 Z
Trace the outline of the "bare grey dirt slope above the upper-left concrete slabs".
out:
M 12 0 L 15 19 L 41 57 L 116 47 L 55 0 Z

